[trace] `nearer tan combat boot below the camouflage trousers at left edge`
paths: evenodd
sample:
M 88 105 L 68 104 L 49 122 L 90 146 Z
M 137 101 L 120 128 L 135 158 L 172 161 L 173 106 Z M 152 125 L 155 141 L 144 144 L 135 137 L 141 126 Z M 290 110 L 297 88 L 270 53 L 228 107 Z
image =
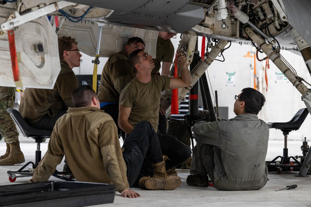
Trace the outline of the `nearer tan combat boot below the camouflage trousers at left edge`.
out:
M 21 152 L 19 142 L 9 143 L 10 154 L 6 158 L 0 160 L 0 165 L 15 165 L 25 162 L 24 154 Z

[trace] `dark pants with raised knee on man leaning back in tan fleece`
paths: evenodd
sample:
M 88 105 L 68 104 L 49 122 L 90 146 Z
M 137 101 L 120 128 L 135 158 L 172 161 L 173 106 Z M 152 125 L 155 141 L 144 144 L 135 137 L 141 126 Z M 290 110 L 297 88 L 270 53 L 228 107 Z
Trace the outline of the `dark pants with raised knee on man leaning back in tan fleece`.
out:
M 152 176 L 151 163 L 163 161 L 155 130 L 148 121 L 139 122 L 123 143 L 123 159 L 127 167 L 129 186 L 138 186 L 141 177 Z M 145 166 L 147 167 L 145 169 Z

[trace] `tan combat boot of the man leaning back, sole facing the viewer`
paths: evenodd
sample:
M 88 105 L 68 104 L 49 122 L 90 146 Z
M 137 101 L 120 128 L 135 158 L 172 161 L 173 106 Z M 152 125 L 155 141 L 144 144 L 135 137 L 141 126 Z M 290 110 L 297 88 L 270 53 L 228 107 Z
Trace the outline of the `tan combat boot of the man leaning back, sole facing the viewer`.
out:
M 138 185 L 148 190 L 173 190 L 180 186 L 181 180 L 178 176 L 167 176 L 165 162 L 152 164 L 154 175 L 152 177 L 142 177 Z

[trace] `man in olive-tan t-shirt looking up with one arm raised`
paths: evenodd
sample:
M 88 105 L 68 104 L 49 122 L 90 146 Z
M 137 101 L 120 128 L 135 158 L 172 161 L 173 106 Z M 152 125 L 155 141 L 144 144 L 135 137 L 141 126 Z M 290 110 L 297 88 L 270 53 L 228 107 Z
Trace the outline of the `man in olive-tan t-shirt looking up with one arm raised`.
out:
M 149 121 L 157 133 L 162 153 L 168 157 L 165 160 L 167 170 L 188 160 L 191 156 L 191 150 L 187 145 L 173 136 L 158 132 L 161 91 L 168 88 L 187 87 L 191 84 L 191 75 L 186 61 L 187 58 L 179 53 L 178 65 L 182 71 L 179 78 L 151 76 L 154 68 L 152 57 L 141 49 L 134 50 L 128 56 L 128 62 L 136 72 L 136 78 L 129 82 L 120 94 L 119 127 L 127 134 L 133 135 L 135 134 L 133 129 L 139 122 Z M 150 171 L 152 171 L 151 167 Z

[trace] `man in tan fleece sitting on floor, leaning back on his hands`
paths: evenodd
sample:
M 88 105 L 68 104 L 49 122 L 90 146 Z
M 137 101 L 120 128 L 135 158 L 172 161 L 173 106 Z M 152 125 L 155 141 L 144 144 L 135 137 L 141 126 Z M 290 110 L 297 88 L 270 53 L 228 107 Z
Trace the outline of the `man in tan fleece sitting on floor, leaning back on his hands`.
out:
M 133 129 L 137 135 L 128 136 L 121 149 L 117 127 L 100 110 L 90 85 L 75 89 L 72 101 L 75 108 L 57 120 L 48 151 L 29 182 L 47 181 L 65 155 L 77 181 L 115 184 L 124 197 L 140 196 L 129 190 L 132 186 L 172 190 L 180 185 L 179 177 L 166 175 L 160 144 L 149 122 L 139 123 Z M 152 177 L 139 175 L 144 159 L 153 163 Z

